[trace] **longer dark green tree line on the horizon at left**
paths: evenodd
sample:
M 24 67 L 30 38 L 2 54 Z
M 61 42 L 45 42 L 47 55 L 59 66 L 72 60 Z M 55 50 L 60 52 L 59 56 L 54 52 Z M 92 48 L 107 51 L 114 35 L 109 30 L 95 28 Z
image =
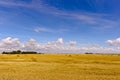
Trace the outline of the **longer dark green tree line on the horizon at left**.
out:
M 11 52 L 2 52 L 2 54 L 42 54 L 42 53 L 37 53 L 35 51 L 11 51 Z

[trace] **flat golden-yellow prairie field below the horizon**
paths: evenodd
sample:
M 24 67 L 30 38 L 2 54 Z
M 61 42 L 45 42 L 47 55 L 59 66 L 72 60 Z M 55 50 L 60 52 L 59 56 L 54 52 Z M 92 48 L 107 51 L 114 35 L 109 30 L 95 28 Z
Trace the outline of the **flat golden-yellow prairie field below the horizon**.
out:
M 120 55 L 0 54 L 0 80 L 120 80 Z

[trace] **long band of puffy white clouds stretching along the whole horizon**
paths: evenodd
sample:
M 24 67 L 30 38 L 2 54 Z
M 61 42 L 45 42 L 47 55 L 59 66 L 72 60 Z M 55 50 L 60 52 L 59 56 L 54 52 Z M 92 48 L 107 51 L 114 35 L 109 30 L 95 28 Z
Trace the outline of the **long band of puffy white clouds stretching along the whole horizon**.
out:
M 108 40 L 108 44 L 119 44 L 119 38 L 116 40 Z M 0 52 L 3 51 L 37 51 L 43 53 L 119 53 L 119 47 L 103 47 L 103 46 L 81 46 L 76 41 L 64 42 L 62 38 L 58 38 L 56 41 L 38 43 L 35 39 L 30 39 L 25 42 L 20 42 L 19 38 L 7 37 L 0 41 Z

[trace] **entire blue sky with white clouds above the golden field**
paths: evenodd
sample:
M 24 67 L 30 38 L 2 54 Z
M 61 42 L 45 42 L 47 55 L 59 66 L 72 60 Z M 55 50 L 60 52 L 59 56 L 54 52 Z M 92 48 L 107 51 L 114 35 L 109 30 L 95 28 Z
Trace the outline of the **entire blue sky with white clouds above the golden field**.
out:
M 119 0 L 0 0 L 0 52 L 120 53 Z

